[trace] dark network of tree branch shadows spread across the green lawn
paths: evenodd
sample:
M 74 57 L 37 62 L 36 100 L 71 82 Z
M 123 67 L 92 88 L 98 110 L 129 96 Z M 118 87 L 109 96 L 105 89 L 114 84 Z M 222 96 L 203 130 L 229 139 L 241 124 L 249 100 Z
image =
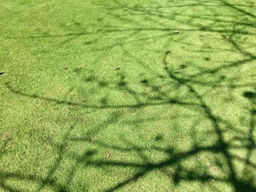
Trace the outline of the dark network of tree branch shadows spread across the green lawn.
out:
M 186 3 L 187 2 L 187 3 Z M 110 159 L 106 161 L 104 159 L 94 159 L 95 154 L 97 154 L 97 150 L 89 149 L 86 150 L 83 155 L 72 155 L 72 158 L 76 162 L 76 166 L 80 164 L 85 164 L 86 166 L 93 166 L 97 169 L 101 169 L 102 167 L 113 167 L 113 168 L 125 168 L 125 169 L 136 169 L 135 173 L 130 175 L 127 178 L 120 178 L 116 182 L 116 184 L 107 186 L 104 191 L 118 191 L 124 188 L 125 186 L 131 185 L 132 183 L 136 183 L 139 180 L 142 180 L 146 175 L 151 172 L 159 171 L 161 174 L 164 174 L 168 177 L 170 182 L 173 185 L 179 185 L 180 183 L 188 182 L 194 183 L 199 182 L 202 185 L 206 185 L 210 191 L 218 191 L 216 183 L 224 183 L 225 185 L 230 185 L 233 191 L 256 191 L 256 181 L 255 181 L 255 172 L 256 172 L 256 164 L 252 161 L 252 153 L 255 150 L 255 88 L 256 82 L 240 82 L 239 78 L 234 77 L 226 77 L 222 74 L 223 71 L 227 70 L 236 70 L 239 71 L 240 66 L 254 64 L 256 61 L 255 53 L 249 52 L 244 49 L 244 43 L 239 42 L 239 37 L 242 36 L 253 36 L 255 37 L 255 32 L 251 32 L 252 29 L 255 30 L 255 23 L 253 22 L 245 22 L 245 21 L 229 21 L 221 18 L 214 18 L 215 12 L 212 15 L 186 15 L 184 13 L 176 12 L 163 12 L 162 9 L 173 9 L 173 7 L 208 7 L 209 9 L 217 9 L 218 7 L 227 7 L 227 9 L 235 9 L 237 12 L 240 12 L 242 15 L 246 15 L 252 18 L 252 21 L 255 21 L 255 15 L 247 12 L 243 9 L 246 7 L 241 4 L 230 4 L 227 1 L 220 0 L 212 5 L 208 5 L 203 1 L 195 2 L 195 1 L 184 1 L 181 5 L 171 5 L 172 1 L 168 2 L 167 6 L 151 6 L 145 7 L 140 6 L 140 4 L 135 4 L 133 6 L 129 6 L 129 4 L 121 3 L 118 1 L 113 1 L 113 6 L 108 4 L 97 4 L 97 6 L 103 7 L 104 9 L 113 10 L 113 13 L 110 13 L 114 18 L 121 20 L 121 22 L 132 23 L 133 25 L 139 26 L 137 20 L 126 19 L 126 15 L 133 15 L 135 17 L 141 17 L 146 20 L 146 18 L 151 18 L 151 21 L 156 22 L 157 19 L 165 19 L 165 20 L 176 20 L 177 22 L 187 24 L 191 28 L 181 28 L 181 31 L 185 31 L 187 33 L 192 33 L 196 31 L 207 32 L 218 34 L 223 41 L 227 45 L 229 45 L 232 49 L 232 53 L 238 53 L 241 55 L 241 58 L 235 59 L 234 61 L 225 62 L 228 64 L 215 66 L 215 67 L 197 67 L 196 64 L 184 65 L 184 64 L 170 64 L 171 57 L 173 55 L 173 51 L 166 50 L 162 52 L 162 72 L 163 74 L 159 74 L 154 72 L 151 68 L 147 68 L 146 61 L 138 58 L 138 64 L 146 69 L 146 72 L 151 76 L 154 75 L 154 78 L 148 79 L 141 77 L 138 82 L 129 82 L 126 74 L 118 72 L 116 75 L 119 77 L 118 82 L 108 81 L 102 82 L 94 78 L 89 78 L 88 83 L 97 83 L 99 89 L 105 88 L 108 91 L 119 91 L 124 93 L 127 96 L 130 96 L 134 102 L 130 104 L 109 104 L 108 96 L 102 98 L 99 104 L 84 104 L 82 102 L 73 102 L 66 101 L 54 98 L 48 98 L 45 96 L 40 96 L 36 93 L 25 93 L 23 91 L 15 88 L 11 83 L 5 84 L 5 87 L 11 93 L 26 97 L 29 99 L 39 99 L 42 101 L 48 101 L 49 103 L 66 105 L 68 107 L 79 107 L 80 109 L 93 109 L 93 110 L 114 110 L 109 113 L 108 118 L 105 121 L 100 122 L 97 126 L 91 128 L 91 130 L 87 131 L 85 136 L 83 137 L 74 137 L 71 135 L 72 129 L 75 127 L 70 126 L 67 134 L 63 138 L 63 143 L 57 149 L 59 158 L 56 159 L 56 163 L 51 166 L 51 169 L 48 171 L 48 177 L 46 178 L 36 178 L 34 175 L 22 175 L 22 174 L 10 174 L 7 172 L 1 172 L 1 180 L 0 186 L 1 188 L 7 189 L 9 191 L 19 191 L 15 190 L 15 188 L 11 188 L 10 186 L 4 183 L 10 177 L 17 178 L 19 180 L 32 180 L 36 183 L 39 183 L 38 191 L 42 190 L 45 185 L 51 185 L 56 191 L 69 191 L 68 186 L 69 183 L 72 182 L 72 177 L 75 174 L 75 167 L 69 172 L 69 180 L 67 180 L 66 185 L 59 185 L 58 182 L 53 179 L 53 174 L 56 172 L 56 169 L 59 167 L 59 164 L 62 159 L 62 155 L 67 153 L 65 146 L 68 145 L 69 142 L 80 142 L 80 143 L 89 143 L 94 144 L 97 147 L 105 147 L 111 150 L 120 151 L 123 153 L 136 153 L 140 158 L 138 162 L 132 162 L 129 160 L 115 160 Z M 211 1 L 209 1 L 211 3 Z M 160 3 L 159 3 L 160 4 Z M 217 7 L 217 8 L 216 8 Z M 121 11 L 124 16 L 117 16 L 115 12 Z M 216 16 L 216 14 L 215 14 Z M 221 15 L 222 18 L 225 17 L 225 14 Z M 184 19 L 180 19 L 179 17 L 189 18 L 184 21 Z M 200 26 L 195 20 L 211 20 L 214 23 L 213 26 Z M 233 29 L 227 29 L 222 26 L 223 23 L 226 23 L 228 26 L 232 26 Z M 157 27 L 160 23 L 156 23 L 154 27 L 138 27 L 138 28 L 118 28 L 117 26 L 112 26 L 111 28 L 104 28 L 99 30 L 100 33 L 108 34 L 108 35 L 119 35 L 124 34 L 124 37 L 120 37 L 121 42 L 113 42 L 107 46 L 97 46 L 95 47 L 90 41 L 86 42 L 85 46 L 93 47 L 93 51 L 100 52 L 102 50 L 111 49 L 113 47 L 122 47 L 124 52 L 129 54 L 129 50 L 124 48 L 124 45 L 143 43 L 146 39 L 156 40 L 157 39 L 165 39 L 170 36 L 174 36 L 174 34 L 170 35 L 170 31 L 173 31 L 175 28 L 170 27 Z M 243 26 L 245 29 L 241 30 L 240 27 Z M 143 32 L 156 32 L 157 35 L 143 35 Z M 97 33 L 97 32 L 96 32 Z M 138 35 L 140 34 L 140 35 Z M 78 33 L 78 34 L 65 34 L 63 36 L 67 37 L 80 37 L 83 35 L 87 35 L 86 33 Z M 59 38 L 63 37 L 58 34 L 53 36 L 36 36 L 29 38 Z M 138 38 L 127 40 L 130 37 Z M 178 39 L 178 38 L 177 38 Z M 70 39 L 72 40 L 72 39 Z M 180 41 L 183 43 L 181 39 L 176 41 Z M 167 43 L 170 42 L 170 39 Z M 67 43 L 67 42 L 65 42 Z M 249 43 L 249 42 L 248 42 Z M 251 45 L 254 45 L 253 42 Z M 211 50 L 209 50 L 211 52 Z M 217 50 L 221 52 L 222 50 Z M 206 62 L 209 61 L 210 58 L 206 59 Z M 177 66 L 178 65 L 178 69 Z M 195 69 L 195 72 L 191 74 L 187 74 L 188 68 Z M 203 77 L 209 77 L 211 80 L 206 81 Z M 159 83 L 161 82 L 161 83 Z M 132 86 L 133 84 L 139 85 L 140 90 L 136 90 Z M 236 123 L 229 121 L 229 118 L 222 115 L 222 113 L 218 113 L 215 109 L 215 105 L 209 101 L 209 97 L 211 98 L 211 93 L 217 94 L 217 91 L 228 90 L 230 95 L 228 95 L 227 99 L 231 100 L 233 104 L 236 101 L 236 97 L 233 96 L 233 92 L 241 91 L 241 88 L 246 88 L 246 91 L 241 93 L 242 101 L 244 103 L 249 102 L 249 110 L 244 110 L 248 114 L 249 117 L 249 125 L 248 131 L 240 130 L 240 127 L 236 126 Z M 182 93 L 181 89 L 186 90 L 185 93 Z M 222 99 L 222 96 L 225 93 L 219 94 L 219 97 Z M 224 97 L 224 96 L 223 96 Z M 234 101 L 232 101 L 234 100 Z M 245 101 L 246 100 L 246 101 Z M 244 104 L 243 103 L 243 104 Z M 219 105 L 223 105 L 225 107 L 225 99 L 222 99 L 222 103 Z M 132 142 L 129 139 L 124 138 L 123 141 L 127 144 L 128 147 L 122 147 L 115 143 L 110 144 L 109 142 L 104 142 L 102 140 L 94 139 L 94 137 L 98 134 L 101 134 L 104 128 L 117 123 L 118 120 L 122 119 L 122 115 L 117 112 L 117 110 L 141 110 L 146 107 L 186 107 L 186 109 L 195 112 L 197 118 L 199 120 L 195 120 L 195 123 L 192 126 L 188 126 L 188 129 L 194 129 L 194 133 L 189 135 L 192 141 L 192 147 L 188 150 L 180 151 L 176 147 L 158 147 L 157 145 L 142 147 L 136 142 Z M 239 108 L 243 106 L 239 106 Z M 221 106 L 220 106 L 221 107 Z M 224 109 L 225 110 L 225 109 Z M 189 118 L 194 118 L 192 115 Z M 203 120 L 201 120 L 203 119 Z M 206 120 L 205 120 L 206 119 Z M 159 117 L 154 118 L 140 118 L 139 120 L 129 120 L 127 124 L 142 124 L 143 122 L 159 120 Z M 184 120 L 184 117 L 178 117 L 178 120 Z M 177 120 L 177 121 L 178 121 Z M 204 145 L 203 142 L 198 142 L 198 139 L 195 139 L 195 134 L 200 134 L 197 131 L 197 125 L 200 123 L 208 122 L 211 127 L 211 132 L 209 131 L 207 134 L 211 134 L 208 137 L 216 137 L 214 139 L 214 143 L 211 145 Z M 104 127 L 104 128 L 102 128 Z M 234 135 L 232 139 L 227 139 L 227 134 Z M 203 139 L 208 139 L 207 136 L 204 136 Z M 187 139 L 187 138 L 186 138 Z M 164 137 L 162 134 L 157 134 L 155 137 L 155 142 L 162 142 Z M 171 141 L 167 141 L 171 142 Z M 190 142 L 190 140 L 189 140 Z M 236 145 L 236 142 L 239 145 Z M 245 145 L 244 143 L 247 143 Z M 240 145 L 242 144 L 242 145 Z M 7 143 L 6 143 L 7 145 Z M 4 147 L 6 146 L 4 145 Z M 233 150 L 244 150 L 246 151 L 245 157 L 241 157 L 240 155 L 233 152 Z M 161 160 L 159 162 L 153 161 L 151 158 L 148 158 L 146 155 L 149 152 L 158 152 L 163 153 L 167 156 L 166 159 Z M 211 160 L 204 160 L 206 167 L 200 165 L 200 162 L 196 161 L 197 155 L 200 154 L 211 154 Z M 0 156 L 1 158 L 1 156 Z M 197 169 L 197 167 L 187 167 L 184 164 L 184 161 L 192 161 L 192 164 L 196 166 L 203 167 L 203 171 Z M 236 162 L 239 162 L 244 166 L 244 169 L 241 171 L 236 166 Z M 211 166 L 216 166 L 219 170 L 220 174 L 212 174 L 210 169 Z M 174 170 L 170 172 L 170 168 Z M 225 177 L 223 177 L 223 175 Z

